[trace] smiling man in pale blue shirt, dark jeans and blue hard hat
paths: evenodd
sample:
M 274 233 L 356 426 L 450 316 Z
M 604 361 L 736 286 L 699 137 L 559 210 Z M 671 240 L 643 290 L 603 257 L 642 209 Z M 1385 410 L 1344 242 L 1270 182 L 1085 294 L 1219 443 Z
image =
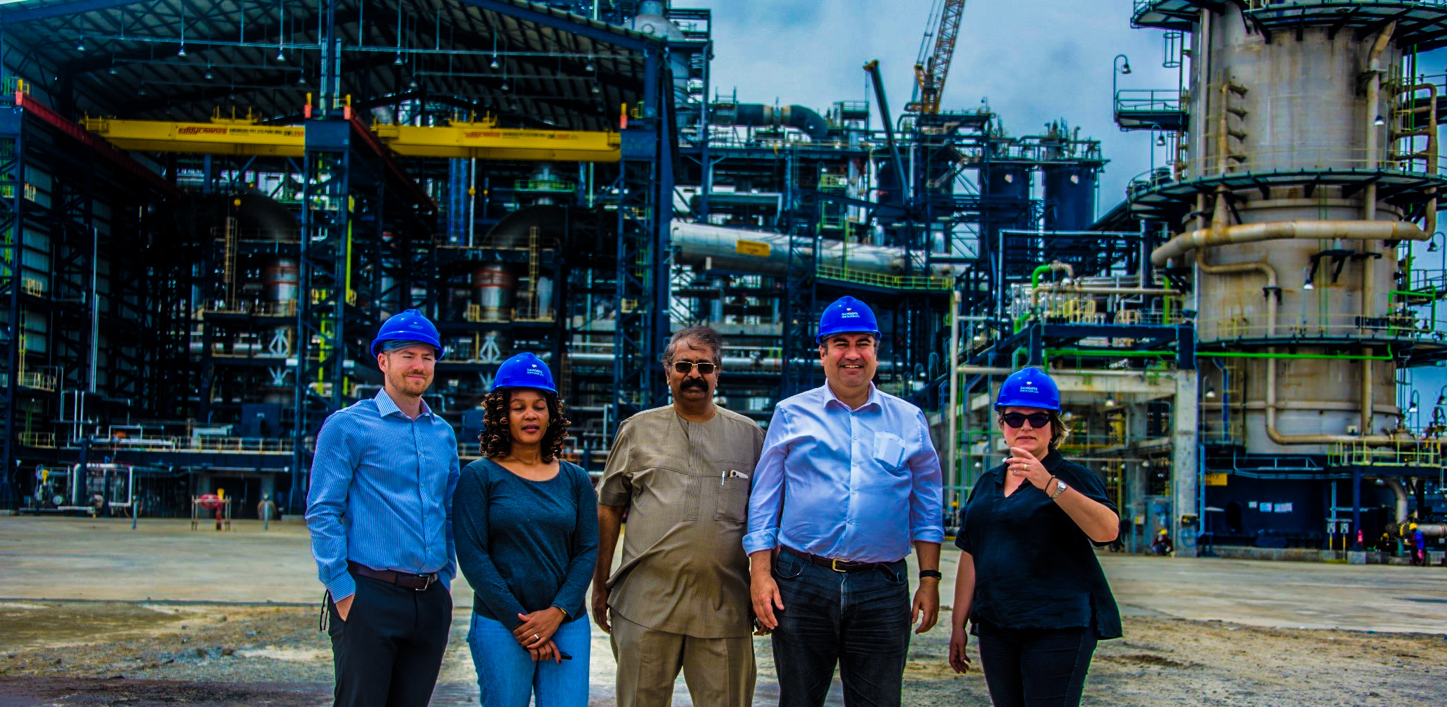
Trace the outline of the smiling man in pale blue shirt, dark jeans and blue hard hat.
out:
M 939 455 L 919 408 L 874 387 L 880 330 L 845 296 L 819 321 L 826 385 L 774 408 L 748 502 L 750 594 L 783 707 L 900 704 L 909 629 L 939 617 Z M 909 597 L 904 555 L 919 554 Z

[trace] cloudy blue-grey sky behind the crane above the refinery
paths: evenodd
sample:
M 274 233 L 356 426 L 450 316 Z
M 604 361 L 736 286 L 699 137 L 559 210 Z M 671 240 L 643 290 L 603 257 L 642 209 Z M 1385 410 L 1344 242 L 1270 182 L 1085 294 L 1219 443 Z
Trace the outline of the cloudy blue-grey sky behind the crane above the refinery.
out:
M 938 1 L 673 0 L 673 6 L 712 7 L 718 91 L 737 88 L 744 103 L 797 103 L 820 113 L 841 100 L 873 104 L 862 67 L 880 59 L 897 116 L 909 103 L 915 59 Z M 1110 208 L 1150 163 L 1149 136 L 1121 133 L 1111 121 L 1114 56 L 1130 58 L 1132 74 L 1120 77 L 1121 88 L 1176 87 L 1176 69 L 1160 68 L 1162 32 L 1130 29 L 1130 0 L 969 0 L 942 110 L 975 108 L 985 98 L 1011 134 L 1037 133 L 1059 119 L 1079 126 L 1082 136 L 1101 140 L 1110 159 L 1100 192 L 1100 208 Z

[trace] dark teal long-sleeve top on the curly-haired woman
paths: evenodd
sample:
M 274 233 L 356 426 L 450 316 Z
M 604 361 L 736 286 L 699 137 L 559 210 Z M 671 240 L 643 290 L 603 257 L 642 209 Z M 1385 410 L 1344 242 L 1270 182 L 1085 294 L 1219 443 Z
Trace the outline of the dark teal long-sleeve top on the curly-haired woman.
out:
M 467 464 L 453 496 L 457 565 L 473 588 L 473 612 L 517 627 L 519 613 L 550 606 L 587 616 L 598 560 L 598 496 L 587 473 L 559 461 L 532 481 L 483 458 Z

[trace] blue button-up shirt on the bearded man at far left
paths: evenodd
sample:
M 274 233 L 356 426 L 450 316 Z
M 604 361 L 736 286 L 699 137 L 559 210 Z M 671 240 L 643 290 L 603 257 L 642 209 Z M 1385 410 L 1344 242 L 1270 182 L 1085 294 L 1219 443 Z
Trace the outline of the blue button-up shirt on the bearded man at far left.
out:
M 347 561 L 373 570 L 457 574 L 451 500 L 457 437 L 423 402 L 410 419 L 379 390 L 331 414 L 317 434 L 307 528 L 317 575 L 341 600 L 356 591 Z

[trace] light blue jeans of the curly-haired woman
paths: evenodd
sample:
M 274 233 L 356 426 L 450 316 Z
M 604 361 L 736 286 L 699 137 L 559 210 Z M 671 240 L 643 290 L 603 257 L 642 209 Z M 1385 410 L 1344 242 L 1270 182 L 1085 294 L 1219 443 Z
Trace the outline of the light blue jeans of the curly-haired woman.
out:
M 527 707 L 537 695 L 538 707 L 587 707 L 587 649 L 592 643 L 586 616 L 566 622 L 553 643 L 572 661 L 532 662 L 527 649 L 501 622 L 472 614 L 467 648 L 478 668 L 478 701 L 486 707 Z

